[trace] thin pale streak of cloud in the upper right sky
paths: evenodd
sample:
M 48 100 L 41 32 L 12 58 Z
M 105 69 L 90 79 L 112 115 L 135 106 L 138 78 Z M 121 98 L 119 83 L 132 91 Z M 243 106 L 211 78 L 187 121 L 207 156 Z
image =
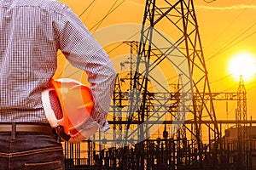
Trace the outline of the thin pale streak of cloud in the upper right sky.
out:
M 236 5 L 230 7 L 212 7 L 212 6 L 204 6 L 198 5 L 196 8 L 209 9 L 209 10 L 230 10 L 230 9 L 256 9 L 256 5 Z

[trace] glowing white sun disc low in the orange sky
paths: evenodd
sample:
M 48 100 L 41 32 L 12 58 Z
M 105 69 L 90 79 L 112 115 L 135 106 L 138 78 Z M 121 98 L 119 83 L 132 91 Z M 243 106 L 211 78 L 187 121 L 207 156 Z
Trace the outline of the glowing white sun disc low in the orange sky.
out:
M 251 79 L 256 73 L 256 59 L 253 54 L 242 52 L 232 56 L 229 63 L 230 74 L 239 80 Z

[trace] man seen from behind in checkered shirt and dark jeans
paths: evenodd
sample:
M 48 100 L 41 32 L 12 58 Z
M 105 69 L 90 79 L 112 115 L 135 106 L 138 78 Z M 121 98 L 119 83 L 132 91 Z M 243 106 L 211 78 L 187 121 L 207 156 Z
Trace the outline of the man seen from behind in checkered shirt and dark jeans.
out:
M 95 102 L 90 121 L 102 131 L 109 128 L 115 71 L 78 16 L 55 0 L 0 0 L 1 169 L 64 169 L 41 99 L 55 74 L 58 50 L 88 75 Z M 82 139 L 78 133 L 71 141 Z

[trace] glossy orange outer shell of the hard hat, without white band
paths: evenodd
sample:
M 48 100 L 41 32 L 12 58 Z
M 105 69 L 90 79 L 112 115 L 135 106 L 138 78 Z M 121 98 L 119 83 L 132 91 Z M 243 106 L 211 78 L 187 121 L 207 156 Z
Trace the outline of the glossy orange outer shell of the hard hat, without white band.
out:
M 57 124 L 64 127 L 64 133 L 77 133 L 94 106 L 90 88 L 70 78 L 52 79 L 51 84 L 61 108 L 62 116 L 55 112 Z

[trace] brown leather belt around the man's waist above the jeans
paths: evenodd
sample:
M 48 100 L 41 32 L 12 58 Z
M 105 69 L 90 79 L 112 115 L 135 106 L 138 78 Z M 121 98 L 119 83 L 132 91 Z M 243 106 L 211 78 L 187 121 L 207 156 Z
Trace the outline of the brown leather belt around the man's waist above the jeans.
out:
M 40 124 L 1 124 L 0 133 L 41 133 L 41 134 L 53 134 L 55 131 L 49 125 Z

